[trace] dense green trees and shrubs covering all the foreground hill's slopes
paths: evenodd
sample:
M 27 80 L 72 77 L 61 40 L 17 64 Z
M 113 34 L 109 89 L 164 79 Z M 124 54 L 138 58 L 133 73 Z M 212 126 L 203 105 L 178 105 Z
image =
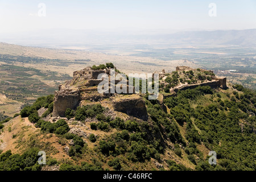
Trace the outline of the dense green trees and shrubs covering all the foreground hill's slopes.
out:
M 108 169 L 104 165 L 122 170 L 127 168 L 127 163 L 136 166 L 151 159 L 165 162 L 170 170 L 191 170 L 174 160 L 164 159 L 165 152 L 171 150 L 176 159 L 188 159 L 196 170 L 255 171 L 256 94 L 253 90 L 233 85 L 228 91 L 219 92 L 209 86 L 197 86 L 195 89 L 180 90 L 176 97 L 165 98 L 164 104 L 147 100 L 146 96 L 148 121 L 109 117 L 105 113 L 107 108 L 100 104 L 66 110 L 66 117 L 72 118 L 73 122 L 85 123 L 86 118 L 94 119 L 95 122 L 90 122 L 90 129 L 108 133 L 104 137 L 88 135 L 87 141 L 96 144 L 93 150 L 79 135 L 68 132 L 70 128 L 65 119 L 54 123 L 42 120 L 42 117 L 52 113 L 53 96 L 38 98 L 33 105 L 24 107 L 20 115 L 28 117 L 42 133 L 55 134 L 60 144 L 72 143 L 68 155 L 73 160 L 58 162 L 60 170 Z M 48 110 L 39 117 L 37 110 L 41 107 Z M 217 165 L 208 163 L 209 156 L 205 158 L 205 151 L 199 146 L 216 151 Z M 23 161 L 32 156 L 8 152 L 3 153 L 2 158 L 0 155 L 0 169 L 40 169 L 34 160 L 26 164 L 27 168 L 16 163 L 18 159 Z M 88 154 L 93 154 L 94 158 L 90 162 L 80 162 Z

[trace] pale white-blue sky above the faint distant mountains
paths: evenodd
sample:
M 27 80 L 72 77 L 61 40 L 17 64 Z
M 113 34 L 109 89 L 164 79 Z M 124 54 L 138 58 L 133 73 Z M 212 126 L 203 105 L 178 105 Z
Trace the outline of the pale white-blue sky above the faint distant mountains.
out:
M 46 5 L 46 16 L 38 16 L 39 3 Z M 208 14 L 210 3 L 216 4 L 216 17 Z M 0 0 L 0 33 L 51 28 L 249 29 L 256 28 L 256 1 Z

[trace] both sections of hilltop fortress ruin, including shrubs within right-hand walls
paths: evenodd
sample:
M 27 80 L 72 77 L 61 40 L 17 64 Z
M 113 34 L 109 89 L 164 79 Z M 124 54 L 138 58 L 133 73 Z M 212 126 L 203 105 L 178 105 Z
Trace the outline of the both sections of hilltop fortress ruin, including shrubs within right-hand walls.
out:
M 65 117 L 65 111 L 68 108 L 76 109 L 77 106 L 108 100 L 107 102 L 113 110 L 146 121 L 148 118 L 146 105 L 141 94 L 98 93 L 97 86 L 102 81 L 102 79 L 98 79 L 98 76 L 101 73 L 106 73 L 110 77 L 110 68 L 94 70 L 91 67 L 86 67 L 80 71 L 75 71 L 72 80 L 59 85 L 59 90 L 55 91 L 53 117 Z M 168 91 L 168 93 L 160 91 L 158 98 L 160 105 L 163 98 L 175 96 L 179 90 L 195 88 L 199 85 L 226 89 L 225 77 L 217 77 L 212 71 L 205 69 L 193 69 L 183 66 L 176 67 L 176 72 L 166 73 L 163 69 L 162 71 L 153 73 L 153 75 L 155 74 L 159 75 L 159 84 L 163 86 L 164 90 Z M 203 79 L 200 80 L 199 75 L 203 77 Z M 170 77 L 172 78 L 172 82 L 167 81 L 168 77 L 169 80 Z M 177 77 L 180 78 L 180 80 L 178 80 Z M 187 77 L 193 78 L 185 80 Z M 174 80 L 176 80 L 175 84 L 173 83 Z M 120 80 L 114 80 L 115 84 L 119 81 Z M 128 87 L 130 86 L 127 82 L 127 88 Z

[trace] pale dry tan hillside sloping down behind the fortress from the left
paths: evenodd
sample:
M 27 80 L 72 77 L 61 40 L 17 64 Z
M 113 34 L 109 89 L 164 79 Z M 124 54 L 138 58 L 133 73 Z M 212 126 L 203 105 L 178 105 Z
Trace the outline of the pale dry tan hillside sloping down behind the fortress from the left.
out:
M 93 64 L 105 64 L 112 62 L 122 72 L 153 72 L 159 67 L 168 67 L 173 71 L 177 65 L 195 67 L 195 63 L 188 60 L 172 59 L 168 61 L 156 59 L 150 56 L 127 56 L 115 53 L 107 54 L 96 51 L 77 49 L 45 48 L 18 46 L 0 42 L 0 64 L 14 64 L 20 67 L 39 69 L 40 71 L 55 71 L 72 75 L 74 70 L 92 66 Z M 147 65 L 143 67 L 142 65 Z

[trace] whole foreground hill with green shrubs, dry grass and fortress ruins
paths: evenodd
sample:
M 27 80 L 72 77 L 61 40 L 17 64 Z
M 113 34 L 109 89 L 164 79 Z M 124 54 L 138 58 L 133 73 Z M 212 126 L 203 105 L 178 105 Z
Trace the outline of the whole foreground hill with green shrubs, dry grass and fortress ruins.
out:
M 177 67 L 160 72 L 158 100 L 99 94 L 95 77 L 110 67 L 74 72 L 55 96 L 3 121 L 0 170 L 255 171 L 255 91 Z M 45 166 L 36 163 L 41 150 Z M 209 165 L 209 151 L 217 165 Z

